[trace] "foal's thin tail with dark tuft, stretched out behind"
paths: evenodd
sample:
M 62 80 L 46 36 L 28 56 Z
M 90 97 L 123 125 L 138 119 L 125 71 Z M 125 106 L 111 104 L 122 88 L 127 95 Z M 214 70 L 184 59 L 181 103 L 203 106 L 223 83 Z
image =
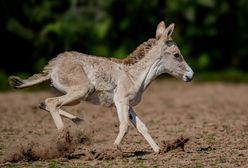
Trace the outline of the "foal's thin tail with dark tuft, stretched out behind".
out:
M 13 88 L 26 88 L 29 86 L 33 86 L 36 85 L 38 83 L 44 82 L 46 80 L 48 80 L 49 74 L 48 73 L 39 73 L 39 74 L 35 74 L 31 77 L 29 77 L 28 79 L 21 79 L 18 76 L 10 76 L 9 77 L 9 84 L 10 86 L 12 86 Z

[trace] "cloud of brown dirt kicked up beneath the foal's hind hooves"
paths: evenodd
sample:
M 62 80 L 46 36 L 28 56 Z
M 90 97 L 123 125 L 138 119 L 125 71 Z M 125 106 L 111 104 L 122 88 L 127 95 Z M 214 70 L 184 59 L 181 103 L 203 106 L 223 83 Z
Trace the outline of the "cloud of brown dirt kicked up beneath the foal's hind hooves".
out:
M 30 139 L 21 143 L 14 153 L 10 153 L 4 162 L 37 161 L 67 157 L 78 144 L 89 144 L 90 135 L 76 126 L 59 131 L 49 139 Z

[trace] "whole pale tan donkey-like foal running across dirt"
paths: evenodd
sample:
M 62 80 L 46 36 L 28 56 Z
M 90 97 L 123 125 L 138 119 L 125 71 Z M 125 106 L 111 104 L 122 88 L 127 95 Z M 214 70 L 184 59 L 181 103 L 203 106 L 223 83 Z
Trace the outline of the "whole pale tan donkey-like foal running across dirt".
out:
M 58 129 L 64 126 L 60 115 L 75 123 L 81 120 L 61 110 L 63 105 L 81 100 L 105 106 L 115 105 L 120 126 L 114 144 L 120 145 L 131 120 L 152 149 L 159 152 L 159 146 L 134 112 L 133 106 L 141 101 L 147 86 L 162 73 L 186 82 L 192 80 L 193 71 L 171 38 L 173 30 L 174 24 L 166 28 L 164 22 L 160 22 L 156 38 L 141 44 L 125 59 L 64 52 L 49 61 L 41 73 L 25 80 L 10 76 L 9 82 L 14 88 L 25 88 L 50 80 L 53 87 L 63 92 L 63 96 L 48 98 L 40 104 L 40 108 L 51 113 Z

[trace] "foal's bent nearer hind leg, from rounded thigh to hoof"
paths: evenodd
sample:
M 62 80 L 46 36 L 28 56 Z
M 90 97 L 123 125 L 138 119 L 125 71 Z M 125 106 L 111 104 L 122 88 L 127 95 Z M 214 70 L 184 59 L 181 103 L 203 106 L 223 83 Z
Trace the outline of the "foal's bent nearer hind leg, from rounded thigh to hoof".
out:
M 49 111 L 58 129 L 63 128 L 63 122 L 59 113 L 70 118 L 73 117 L 67 112 L 60 111 L 59 108 L 86 98 L 94 89 L 89 82 L 82 66 L 71 60 L 71 57 L 64 58 L 51 73 L 51 82 L 55 88 L 65 92 L 60 97 L 48 98 L 42 103 L 45 110 Z

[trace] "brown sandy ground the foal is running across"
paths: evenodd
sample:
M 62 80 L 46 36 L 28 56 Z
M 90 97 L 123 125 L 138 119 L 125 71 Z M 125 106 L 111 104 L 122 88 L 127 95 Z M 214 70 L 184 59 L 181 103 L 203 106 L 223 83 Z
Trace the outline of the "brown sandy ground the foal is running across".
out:
M 0 94 L 0 167 L 248 167 L 248 85 L 153 82 L 135 107 L 138 116 L 161 147 L 189 138 L 184 151 L 160 154 L 133 126 L 117 150 L 115 109 L 86 102 L 64 108 L 84 122 L 63 119 L 68 130 L 58 133 L 38 108 L 54 95 Z

